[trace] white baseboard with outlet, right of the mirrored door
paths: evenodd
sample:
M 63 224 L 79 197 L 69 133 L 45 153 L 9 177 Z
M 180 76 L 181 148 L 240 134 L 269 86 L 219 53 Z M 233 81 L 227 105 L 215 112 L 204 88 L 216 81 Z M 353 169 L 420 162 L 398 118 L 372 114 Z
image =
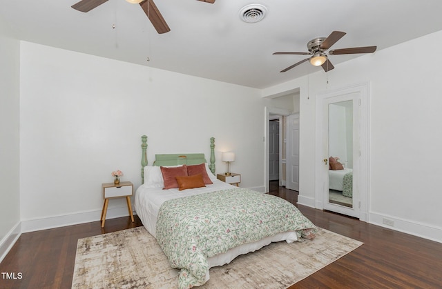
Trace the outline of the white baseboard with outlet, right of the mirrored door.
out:
M 385 224 L 385 221 L 387 223 L 392 223 L 392 225 Z M 441 227 L 392 217 L 378 212 L 369 213 L 369 223 L 442 243 Z

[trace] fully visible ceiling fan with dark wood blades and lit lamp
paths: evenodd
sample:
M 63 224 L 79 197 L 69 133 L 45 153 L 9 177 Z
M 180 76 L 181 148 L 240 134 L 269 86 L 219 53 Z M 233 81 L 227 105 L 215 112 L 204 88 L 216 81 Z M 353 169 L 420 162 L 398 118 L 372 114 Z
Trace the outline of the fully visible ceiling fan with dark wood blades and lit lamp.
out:
M 296 54 L 296 55 L 311 55 L 311 57 L 303 59 L 280 72 L 286 72 L 294 68 L 295 66 L 304 63 L 305 61 L 310 61 L 313 66 L 322 66 L 325 72 L 334 69 L 332 62 L 329 61 L 328 55 L 340 55 L 340 54 L 357 54 L 357 53 L 373 53 L 376 51 L 376 46 L 364 46 L 364 47 L 354 47 L 354 48 L 342 48 L 334 49 L 326 52 L 331 48 L 334 43 L 341 39 L 346 33 L 341 31 L 334 31 L 329 34 L 329 37 L 318 37 L 311 39 L 307 43 L 307 48 L 309 52 L 275 52 L 273 54 Z

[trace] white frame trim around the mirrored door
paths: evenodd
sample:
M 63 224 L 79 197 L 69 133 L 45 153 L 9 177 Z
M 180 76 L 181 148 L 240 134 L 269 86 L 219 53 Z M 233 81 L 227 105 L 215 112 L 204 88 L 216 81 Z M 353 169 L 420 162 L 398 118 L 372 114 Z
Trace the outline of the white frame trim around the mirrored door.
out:
M 315 158 L 315 208 L 323 210 L 324 208 L 324 184 L 323 179 L 323 159 L 328 156 L 323 155 L 323 103 L 325 99 L 339 97 L 343 94 L 360 94 L 360 203 L 356 204 L 360 208 L 359 219 L 368 222 L 369 219 L 369 83 L 359 83 L 354 86 L 340 88 L 336 90 L 327 90 L 316 94 L 316 158 Z M 327 178 L 328 179 L 328 178 Z

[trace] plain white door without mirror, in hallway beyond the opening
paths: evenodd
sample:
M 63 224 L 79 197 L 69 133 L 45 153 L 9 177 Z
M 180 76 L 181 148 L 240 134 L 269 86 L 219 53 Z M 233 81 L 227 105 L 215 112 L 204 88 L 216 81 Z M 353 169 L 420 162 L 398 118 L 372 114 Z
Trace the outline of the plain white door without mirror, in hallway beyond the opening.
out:
M 299 190 L 299 114 L 287 117 L 286 188 Z

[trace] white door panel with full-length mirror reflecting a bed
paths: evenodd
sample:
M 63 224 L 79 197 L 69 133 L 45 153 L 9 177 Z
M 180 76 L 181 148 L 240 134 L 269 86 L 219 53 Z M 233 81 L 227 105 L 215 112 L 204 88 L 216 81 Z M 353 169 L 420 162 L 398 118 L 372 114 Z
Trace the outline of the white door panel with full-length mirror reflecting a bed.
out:
M 360 94 L 323 100 L 323 204 L 325 210 L 360 215 Z M 330 157 L 337 165 L 330 167 Z

